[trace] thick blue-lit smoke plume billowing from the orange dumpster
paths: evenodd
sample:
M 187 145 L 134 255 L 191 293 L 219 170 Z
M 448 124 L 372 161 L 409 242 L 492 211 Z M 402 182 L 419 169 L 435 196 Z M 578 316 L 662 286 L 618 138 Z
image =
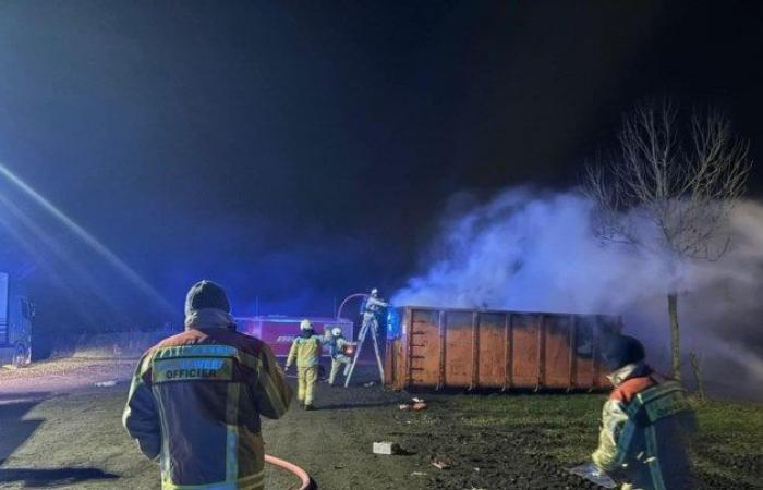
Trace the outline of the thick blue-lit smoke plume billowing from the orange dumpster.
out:
M 603 244 L 581 195 L 513 188 L 451 213 L 397 305 L 622 315 L 626 330 L 668 366 L 666 293 L 680 291 L 683 354 L 695 352 L 710 389 L 755 394 L 763 382 L 763 206 L 734 211 L 728 253 L 671 267 L 667 257 Z M 685 367 L 691 379 L 691 369 Z M 734 379 L 734 382 L 729 382 Z M 749 387 L 749 388 L 744 388 Z

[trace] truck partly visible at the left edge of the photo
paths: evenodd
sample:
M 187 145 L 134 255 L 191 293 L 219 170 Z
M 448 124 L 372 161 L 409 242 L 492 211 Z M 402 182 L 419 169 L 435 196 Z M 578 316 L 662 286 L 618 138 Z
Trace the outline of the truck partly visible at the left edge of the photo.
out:
M 22 284 L 0 272 L 0 366 L 22 367 L 32 362 L 32 319 L 35 305 Z

